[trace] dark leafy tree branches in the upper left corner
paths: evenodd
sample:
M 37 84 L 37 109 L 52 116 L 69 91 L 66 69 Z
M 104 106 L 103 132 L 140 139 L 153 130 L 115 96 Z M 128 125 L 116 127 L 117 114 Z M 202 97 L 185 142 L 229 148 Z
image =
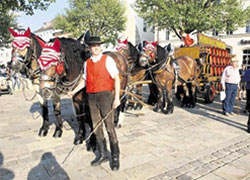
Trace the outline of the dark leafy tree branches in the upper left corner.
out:
M 0 0 L 0 47 L 7 47 L 10 42 L 8 27 L 16 27 L 14 12 L 25 12 L 27 15 L 34 14 L 35 9 L 46 10 L 50 3 L 56 0 Z

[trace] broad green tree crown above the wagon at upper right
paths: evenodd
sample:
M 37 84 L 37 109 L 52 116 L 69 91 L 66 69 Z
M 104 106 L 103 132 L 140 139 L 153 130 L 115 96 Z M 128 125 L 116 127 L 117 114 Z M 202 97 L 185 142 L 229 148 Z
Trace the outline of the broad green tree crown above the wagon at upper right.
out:
M 137 0 L 134 7 L 147 23 L 170 29 L 179 38 L 180 30 L 236 30 L 246 23 L 249 12 L 241 0 Z

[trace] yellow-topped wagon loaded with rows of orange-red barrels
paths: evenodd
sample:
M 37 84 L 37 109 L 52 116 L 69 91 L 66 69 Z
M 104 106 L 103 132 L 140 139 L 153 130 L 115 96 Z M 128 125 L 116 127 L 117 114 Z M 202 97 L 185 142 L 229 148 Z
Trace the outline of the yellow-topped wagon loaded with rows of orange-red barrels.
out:
M 175 49 L 174 56 L 190 56 L 201 62 L 198 92 L 202 94 L 205 102 L 212 103 L 222 88 L 222 72 L 230 64 L 233 56 L 229 53 L 227 45 L 220 40 L 203 34 L 198 34 L 197 39 L 195 46 Z

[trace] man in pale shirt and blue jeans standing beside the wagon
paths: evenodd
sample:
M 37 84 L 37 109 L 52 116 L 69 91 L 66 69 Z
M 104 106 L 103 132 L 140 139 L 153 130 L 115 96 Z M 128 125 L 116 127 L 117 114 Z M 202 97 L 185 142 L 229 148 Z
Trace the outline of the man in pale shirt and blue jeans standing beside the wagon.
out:
M 223 114 L 225 116 L 234 115 L 233 106 L 237 96 L 239 82 L 240 73 L 238 69 L 238 60 L 234 57 L 231 60 L 231 65 L 224 69 L 221 77 L 222 89 L 226 93 L 226 98 L 222 104 Z

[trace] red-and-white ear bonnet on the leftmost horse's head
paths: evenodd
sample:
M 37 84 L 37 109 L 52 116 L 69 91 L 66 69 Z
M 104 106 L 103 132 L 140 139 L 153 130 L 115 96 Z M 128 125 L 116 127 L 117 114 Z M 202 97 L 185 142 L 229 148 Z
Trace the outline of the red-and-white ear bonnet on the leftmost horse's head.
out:
M 14 37 L 14 40 L 12 41 L 12 46 L 14 48 L 23 50 L 24 48 L 30 46 L 30 28 L 26 31 L 15 31 L 9 27 L 9 31 Z

